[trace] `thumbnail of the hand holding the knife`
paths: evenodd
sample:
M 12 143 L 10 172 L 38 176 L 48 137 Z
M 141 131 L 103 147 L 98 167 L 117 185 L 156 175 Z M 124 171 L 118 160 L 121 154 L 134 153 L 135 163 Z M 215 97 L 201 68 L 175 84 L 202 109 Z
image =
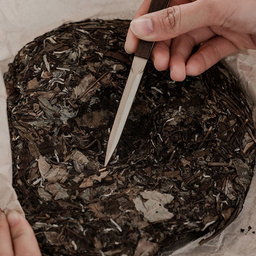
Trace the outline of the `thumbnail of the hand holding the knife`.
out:
M 135 18 L 130 23 L 130 29 L 137 36 L 149 36 L 153 32 L 153 24 L 150 18 Z

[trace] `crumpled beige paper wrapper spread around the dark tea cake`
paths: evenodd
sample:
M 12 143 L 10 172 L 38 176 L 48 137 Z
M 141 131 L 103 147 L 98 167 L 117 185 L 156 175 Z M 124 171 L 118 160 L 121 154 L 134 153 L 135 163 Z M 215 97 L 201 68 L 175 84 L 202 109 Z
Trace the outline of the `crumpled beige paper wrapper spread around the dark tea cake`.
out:
M 66 22 L 85 18 L 132 19 L 143 0 L 1 0 L 0 3 L 0 209 L 22 212 L 12 188 L 12 158 L 2 74 L 27 42 Z M 256 121 L 256 52 L 226 58 L 242 81 Z M 256 177 L 241 214 L 220 235 L 202 246 L 191 242 L 174 256 L 254 256 L 256 251 Z M 251 230 L 248 231 L 248 227 Z M 241 232 L 241 228 L 244 232 Z

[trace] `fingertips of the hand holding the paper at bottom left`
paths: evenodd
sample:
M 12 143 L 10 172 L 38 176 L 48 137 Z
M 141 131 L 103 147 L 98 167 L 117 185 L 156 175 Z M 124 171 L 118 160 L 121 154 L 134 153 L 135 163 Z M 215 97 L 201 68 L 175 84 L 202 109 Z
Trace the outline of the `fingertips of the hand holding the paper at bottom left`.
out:
M 0 256 L 41 256 L 38 242 L 27 220 L 10 211 L 0 210 Z

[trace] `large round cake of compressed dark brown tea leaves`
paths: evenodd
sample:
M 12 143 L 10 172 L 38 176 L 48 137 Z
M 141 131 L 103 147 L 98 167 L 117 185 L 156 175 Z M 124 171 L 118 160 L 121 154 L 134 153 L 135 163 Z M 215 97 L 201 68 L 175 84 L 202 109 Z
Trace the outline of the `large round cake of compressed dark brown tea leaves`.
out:
M 103 167 L 132 62 L 128 27 L 60 26 L 23 47 L 5 74 L 14 187 L 42 255 L 168 255 L 220 233 L 242 209 L 255 129 L 220 63 L 183 82 L 148 63 Z

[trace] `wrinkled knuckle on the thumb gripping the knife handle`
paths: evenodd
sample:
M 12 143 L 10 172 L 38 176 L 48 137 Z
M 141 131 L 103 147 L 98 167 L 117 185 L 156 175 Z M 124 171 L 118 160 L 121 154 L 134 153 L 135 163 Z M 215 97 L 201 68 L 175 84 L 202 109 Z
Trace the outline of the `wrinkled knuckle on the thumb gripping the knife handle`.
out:
M 173 6 L 163 10 L 161 23 L 167 30 L 172 30 L 180 25 L 180 7 Z

